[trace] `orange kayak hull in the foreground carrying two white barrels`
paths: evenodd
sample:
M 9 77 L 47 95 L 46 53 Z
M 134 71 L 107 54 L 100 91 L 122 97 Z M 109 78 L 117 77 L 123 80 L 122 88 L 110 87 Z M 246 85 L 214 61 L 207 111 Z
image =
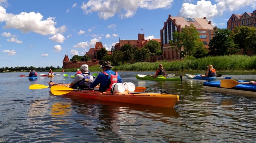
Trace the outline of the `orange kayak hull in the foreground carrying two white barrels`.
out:
M 67 95 L 78 96 L 87 99 L 101 101 L 112 101 L 129 104 L 150 105 L 159 107 L 173 108 L 179 102 L 179 95 L 164 93 L 144 93 L 144 92 L 121 92 L 113 93 L 110 91 L 99 92 L 94 90 L 71 91 Z

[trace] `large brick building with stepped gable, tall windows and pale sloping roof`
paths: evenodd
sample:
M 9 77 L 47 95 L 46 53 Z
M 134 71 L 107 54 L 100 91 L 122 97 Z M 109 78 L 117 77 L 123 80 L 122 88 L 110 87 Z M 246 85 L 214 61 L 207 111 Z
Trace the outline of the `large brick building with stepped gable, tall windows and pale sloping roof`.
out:
M 200 40 L 203 42 L 206 48 L 208 47 L 209 41 L 212 39 L 214 31 L 217 27 L 212 25 L 211 21 L 204 18 L 188 18 L 188 17 L 172 17 L 169 15 L 168 19 L 160 30 L 161 37 L 161 48 L 163 50 L 163 59 L 168 61 L 180 59 L 179 53 L 171 49 L 169 40 L 173 40 L 172 33 L 174 31 L 181 32 L 185 25 L 189 26 L 193 24 L 198 33 L 200 34 Z

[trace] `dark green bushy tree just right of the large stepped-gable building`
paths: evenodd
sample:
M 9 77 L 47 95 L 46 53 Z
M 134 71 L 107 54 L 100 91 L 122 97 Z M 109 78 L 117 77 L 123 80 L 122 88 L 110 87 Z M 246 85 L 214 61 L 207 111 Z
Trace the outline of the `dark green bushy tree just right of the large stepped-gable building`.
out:
M 232 31 L 229 29 L 219 29 L 214 31 L 214 37 L 209 42 L 209 55 L 223 56 L 235 54 L 239 51 L 237 44 L 232 38 Z

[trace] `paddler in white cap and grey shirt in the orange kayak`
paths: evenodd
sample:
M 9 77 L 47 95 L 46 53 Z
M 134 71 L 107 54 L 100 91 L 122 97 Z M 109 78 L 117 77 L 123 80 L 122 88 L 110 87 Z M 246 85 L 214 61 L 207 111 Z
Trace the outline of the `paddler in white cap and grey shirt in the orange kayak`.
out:
M 87 87 L 87 85 L 93 82 L 93 76 L 89 73 L 89 66 L 84 64 L 81 68 L 81 74 L 77 74 L 74 81 L 70 83 L 70 87 L 72 88 L 80 88 L 83 89 Z

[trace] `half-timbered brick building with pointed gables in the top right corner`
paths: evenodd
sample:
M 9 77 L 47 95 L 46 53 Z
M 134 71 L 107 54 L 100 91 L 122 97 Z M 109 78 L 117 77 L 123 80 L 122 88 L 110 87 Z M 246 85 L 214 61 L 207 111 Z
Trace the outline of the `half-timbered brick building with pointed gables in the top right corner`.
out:
M 227 22 L 227 28 L 234 31 L 234 28 L 237 26 L 256 28 L 256 10 L 253 13 L 232 14 Z

